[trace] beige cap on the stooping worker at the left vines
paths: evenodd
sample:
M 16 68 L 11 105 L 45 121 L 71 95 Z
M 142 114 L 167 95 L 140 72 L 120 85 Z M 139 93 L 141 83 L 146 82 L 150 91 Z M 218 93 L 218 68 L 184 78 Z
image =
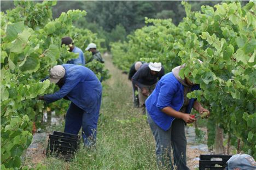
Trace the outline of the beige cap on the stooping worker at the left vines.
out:
M 62 65 L 55 65 L 50 69 L 49 80 L 52 83 L 57 83 L 61 78 L 65 76 L 66 70 Z

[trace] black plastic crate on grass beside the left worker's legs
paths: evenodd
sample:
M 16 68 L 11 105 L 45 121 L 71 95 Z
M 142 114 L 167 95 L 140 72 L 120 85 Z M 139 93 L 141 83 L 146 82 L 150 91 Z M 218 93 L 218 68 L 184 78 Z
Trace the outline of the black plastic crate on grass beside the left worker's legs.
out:
M 79 148 L 79 141 L 79 135 L 53 131 L 53 135 L 49 135 L 46 156 L 62 157 L 69 161 Z

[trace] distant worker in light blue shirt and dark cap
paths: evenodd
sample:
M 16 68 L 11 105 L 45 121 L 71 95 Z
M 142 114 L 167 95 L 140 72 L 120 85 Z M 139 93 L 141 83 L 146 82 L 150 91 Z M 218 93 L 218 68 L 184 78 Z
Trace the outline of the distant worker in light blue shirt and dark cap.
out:
M 70 37 L 63 37 L 61 39 L 61 45 L 63 45 L 63 44 L 65 44 L 65 45 L 67 45 L 69 47 L 69 52 L 73 52 L 73 53 L 78 53 L 79 54 L 78 58 L 69 60 L 67 62 L 68 64 L 85 65 L 84 53 L 83 53 L 83 51 L 80 48 L 74 46 L 74 42 L 73 42 L 72 38 L 70 38 Z

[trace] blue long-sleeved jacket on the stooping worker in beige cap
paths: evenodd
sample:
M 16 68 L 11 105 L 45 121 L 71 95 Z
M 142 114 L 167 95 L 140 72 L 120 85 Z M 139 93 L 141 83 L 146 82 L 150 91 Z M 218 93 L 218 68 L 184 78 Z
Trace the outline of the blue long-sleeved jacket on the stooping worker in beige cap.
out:
M 100 111 L 102 86 L 94 72 L 82 65 L 63 64 L 65 83 L 58 92 L 44 95 L 49 104 L 67 96 L 85 112 L 97 114 Z

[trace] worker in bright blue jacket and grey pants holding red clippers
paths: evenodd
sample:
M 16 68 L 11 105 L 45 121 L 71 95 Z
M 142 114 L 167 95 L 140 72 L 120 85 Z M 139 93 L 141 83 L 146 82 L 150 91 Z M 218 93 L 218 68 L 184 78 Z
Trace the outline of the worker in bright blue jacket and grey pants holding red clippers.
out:
M 187 77 L 183 80 L 179 76 L 179 71 L 184 66 L 177 66 L 164 75 L 146 100 L 148 123 L 156 142 L 158 166 L 166 169 L 173 169 L 171 147 L 177 169 L 189 169 L 186 162 L 187 139 L 184 127 L 186 123 L 193 123 L 196 119 L 187 113 L 193 107 L 200 114 L 210 114 L 195 99 L 187 98 L 187 94 L 199 89 L 199 85 L 193 84 Z

